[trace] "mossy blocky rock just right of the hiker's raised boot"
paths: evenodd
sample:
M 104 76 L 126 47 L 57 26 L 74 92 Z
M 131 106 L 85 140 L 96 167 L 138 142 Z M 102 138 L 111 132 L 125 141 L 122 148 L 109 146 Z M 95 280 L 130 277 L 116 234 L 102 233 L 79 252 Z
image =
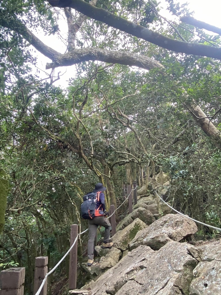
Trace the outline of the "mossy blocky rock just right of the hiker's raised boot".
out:
M 113 235 L 112 240 L 114 247 L 120 249 L 121 251 L 127 250 L 129 243 L 136 236 L 137 232 L 143 230 L 144 228 L 146 228 L 146 224 L 139 218 L 136 218 L 123 230 L 119 230 L 115 235 Z

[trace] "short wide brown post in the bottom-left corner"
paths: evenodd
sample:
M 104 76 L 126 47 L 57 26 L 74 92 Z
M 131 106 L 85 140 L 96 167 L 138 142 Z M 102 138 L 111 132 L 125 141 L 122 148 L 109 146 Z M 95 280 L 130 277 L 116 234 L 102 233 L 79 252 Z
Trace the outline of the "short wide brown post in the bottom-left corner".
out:
M 0 295 L 24 294 L 25 268 L 8 268 L 0 273 Z

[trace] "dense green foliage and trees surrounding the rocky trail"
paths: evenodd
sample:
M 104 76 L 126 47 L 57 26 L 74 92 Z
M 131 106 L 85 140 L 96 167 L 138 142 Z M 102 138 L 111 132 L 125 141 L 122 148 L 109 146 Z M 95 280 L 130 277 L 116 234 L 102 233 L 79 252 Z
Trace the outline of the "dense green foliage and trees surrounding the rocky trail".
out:
M 171 15 L 188 13 L 186 6 L 167 2 Z M 1 199 L 8 194 L 1 268 L 25 266 L 26 291 L 31 294 L 35 257 L 47 255 L 51 268 L 69 247 L 70 224 L 86 228 L 79 215 L 83 194 L 103 182 L 107 206 L 116 206 L 122 183 L 137 180 L 141 186 L 148 166 L 150 177 L 163 171 L 171 179 L 168 198 L 176 209 L 221 227 L 219 133 L 212 137 L 194 113 L 199 106 L 209 126 L 221 131 L 220 60 L 170 52 L 45 1 L 0 3 Z M 156 1 L 137 3 L 97 1 L 97 7 L 164 36 L 220 47 L 217 35 L 178 22 L 171 26 Z M 40 57 L 29 42 L 35 46 L 38 41 L 32 42 L 27 28 L 60 38 L 63 17 L 69 25 L 67 54 L 86 47 L 110 54 L 122 50 L 146 55 L 163 67 L 147 71 L 111 58 L 89 58 L 72 66 L 75 74 L 67 89 L 54 86 L 54 69 L 45 76 L 35 72 Z M 39 45 L 41 53 L 43 47 Z M 199 233 L 199 238 L 217 235 L 205 227 Z M 59 271 L 67 269 L 66 261 Z

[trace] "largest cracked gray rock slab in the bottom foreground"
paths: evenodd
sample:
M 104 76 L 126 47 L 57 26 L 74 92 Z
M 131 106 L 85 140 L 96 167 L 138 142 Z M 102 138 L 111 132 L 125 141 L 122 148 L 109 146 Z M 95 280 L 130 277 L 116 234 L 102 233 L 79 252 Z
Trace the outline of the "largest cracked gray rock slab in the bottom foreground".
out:
M 199 259 L 196 248 L 187 243 L 171 241 L 159 251 L 142 245 L 100 276 L 91 294 L 189 294 Z

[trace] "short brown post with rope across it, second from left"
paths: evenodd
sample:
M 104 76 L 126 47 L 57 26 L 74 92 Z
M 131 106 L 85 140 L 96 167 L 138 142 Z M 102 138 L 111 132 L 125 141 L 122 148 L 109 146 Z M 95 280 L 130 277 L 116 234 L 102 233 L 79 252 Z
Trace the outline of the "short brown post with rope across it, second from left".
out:
M 47 264 L 48 257 L 47 256 L 39 256 L 35 258 L 35 268 L 34 268 L 34 295 L 37 293 L 39 287 L 44 280 L 44 277 L 47 273 Z M 47 279 L 44 283 L 42 291 L 40 295 L 47 295 Z

